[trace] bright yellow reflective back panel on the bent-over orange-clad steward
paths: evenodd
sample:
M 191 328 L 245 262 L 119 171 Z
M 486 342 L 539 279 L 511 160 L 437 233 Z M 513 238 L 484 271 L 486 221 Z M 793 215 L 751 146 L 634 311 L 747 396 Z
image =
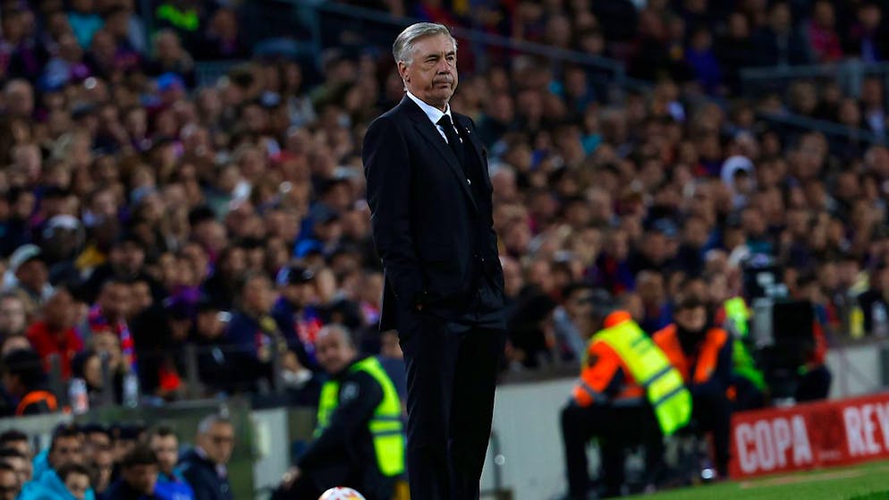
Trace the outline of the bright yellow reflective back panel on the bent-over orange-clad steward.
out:
M 614 349 L 630 369 L 630 375 L 645 388 L 664 436 L 672 436 L 689 423 L 691 394 L 682 374 L 639 325 L 624 321 L 594 335 L 591 342 L 597 341 Z

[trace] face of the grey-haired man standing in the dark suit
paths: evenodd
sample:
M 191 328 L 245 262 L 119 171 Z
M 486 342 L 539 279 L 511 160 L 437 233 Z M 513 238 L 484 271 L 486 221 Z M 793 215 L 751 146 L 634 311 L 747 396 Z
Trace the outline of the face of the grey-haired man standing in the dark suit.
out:
M 457 47 L 446 35 L 414 40 L 410 63 L 400 61 L 405 87 L 428 105 L 444 109 L 457 89 Z

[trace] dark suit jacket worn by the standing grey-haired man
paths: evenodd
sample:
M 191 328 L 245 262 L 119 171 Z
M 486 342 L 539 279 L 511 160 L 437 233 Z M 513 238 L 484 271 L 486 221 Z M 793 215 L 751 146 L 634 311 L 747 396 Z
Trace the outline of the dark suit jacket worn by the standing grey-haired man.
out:
M 452 116 L 466 156 L 476 155 L 483 167 L 481 190 L 473 191 L 478 186 L 407 96 L 371 123 L 364 138 L 371 224 L 385 269 L 382 330 L 395 326 L 395 302 L 408 309 L 422 304 L 445 318 L 460 316 L 479 272 L 503 292 L 487 152 L 475 123 Z

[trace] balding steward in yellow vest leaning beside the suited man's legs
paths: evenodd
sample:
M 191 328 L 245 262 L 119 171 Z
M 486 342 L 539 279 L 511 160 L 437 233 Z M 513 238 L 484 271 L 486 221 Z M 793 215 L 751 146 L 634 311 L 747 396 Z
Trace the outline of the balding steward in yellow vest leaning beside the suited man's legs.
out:
M 322 328 L 315 352 L 330 377 L 321 387 L 315 439 L 273 498 L 318 498 L 341 486 L 368 500 L 390 500 L 405 452 L 402 403 L 392 379 L 377 358 L 358 355 L 343 326 Z

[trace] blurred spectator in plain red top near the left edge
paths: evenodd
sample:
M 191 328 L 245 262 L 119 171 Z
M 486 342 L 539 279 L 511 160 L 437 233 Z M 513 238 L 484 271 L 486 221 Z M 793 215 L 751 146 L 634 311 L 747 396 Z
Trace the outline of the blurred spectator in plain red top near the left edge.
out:
M 52 367 L 52 356 L 62 370 L 62 379 L 71 377 L 74 356 L 83 350 L 83 341 L 74 331 L 74 300 L 71 292 L 56 287 L 43 309 L 43 318 L 28 327 L 28 340 L 43 359 L 47 374 Z

